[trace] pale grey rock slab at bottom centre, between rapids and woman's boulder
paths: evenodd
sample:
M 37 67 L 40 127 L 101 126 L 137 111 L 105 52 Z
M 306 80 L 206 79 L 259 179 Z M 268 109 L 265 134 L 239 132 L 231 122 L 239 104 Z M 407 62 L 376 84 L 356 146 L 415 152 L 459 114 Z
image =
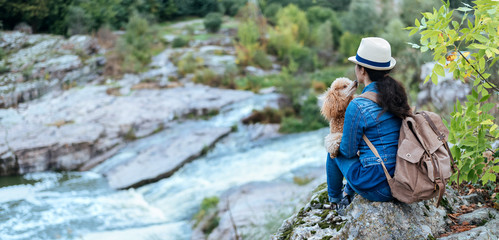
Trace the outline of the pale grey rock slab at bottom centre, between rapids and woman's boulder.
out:
M 325 176 L 322 169 L 317 169 L 308 177 L 315 180 L 301 186 L 290 182 L 253 182 L 228 190 L 220 197 L 216 211 L 194 228 L 191 239 L 268 239 Z M 205 235 L 203 228 L 214 218 L 219 219 L 218 226 Z

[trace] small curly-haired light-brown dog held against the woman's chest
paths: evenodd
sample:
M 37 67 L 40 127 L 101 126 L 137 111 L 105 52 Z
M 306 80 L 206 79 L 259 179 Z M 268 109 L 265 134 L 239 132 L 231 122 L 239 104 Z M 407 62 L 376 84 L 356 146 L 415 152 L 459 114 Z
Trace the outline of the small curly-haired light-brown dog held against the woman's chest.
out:
M 357 90 L 357 81 L 348 78 L 335 79 L 331 83 L 331 87 L 326 90 L 321 114 L 329 121 L 330 133 L 326 136 L 324 145 L 331 158 L 338 155 L 343 135 L 345 111 L 353 99 L 355 90 Z

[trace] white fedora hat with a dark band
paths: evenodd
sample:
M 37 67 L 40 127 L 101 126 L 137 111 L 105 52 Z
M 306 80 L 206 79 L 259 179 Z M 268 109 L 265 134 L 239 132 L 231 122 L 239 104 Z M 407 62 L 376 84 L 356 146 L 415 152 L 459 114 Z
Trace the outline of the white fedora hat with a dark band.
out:
M 374 70 L 390 70 L 397 63 L 392 57 L 390 43 L 378 37 L 362 38 L 357 55 L 349 57 L 348 61 Z

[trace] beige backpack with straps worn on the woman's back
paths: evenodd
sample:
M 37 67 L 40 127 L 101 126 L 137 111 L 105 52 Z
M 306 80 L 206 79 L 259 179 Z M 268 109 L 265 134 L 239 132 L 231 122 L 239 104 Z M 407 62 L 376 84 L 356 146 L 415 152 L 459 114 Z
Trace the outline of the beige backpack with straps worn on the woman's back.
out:
M 359 97 L 377 103 L 376 93 L 367 92 Z M 447 145 L 448 134 L 440 116 L 433 112 L 416 112 L 402 120 L 393 178 L 381 161 L 394 198 L 413 203 L 438 196 L 436 205 L 439 205 L 452 175 L 451 160 L 454 161 Z M 365 135 L 364 141 L 380 158 Z

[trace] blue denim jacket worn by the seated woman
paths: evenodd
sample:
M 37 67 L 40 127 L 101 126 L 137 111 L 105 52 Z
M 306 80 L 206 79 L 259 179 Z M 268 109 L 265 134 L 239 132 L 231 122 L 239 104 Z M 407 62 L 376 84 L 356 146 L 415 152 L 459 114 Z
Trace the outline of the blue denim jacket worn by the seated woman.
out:
M 376 82 L 367 85 L 362 93 L 367 91 L 377 92 Z M 376 147 L 385 164 L 394 168 L 402 120 L 389 112 L 378 116 L 381 111 L 382 108 L 378 104 L 366 98 L 354 98 L 350 102 L 345 113 L 343 137 L 340 144 L 341 155 L 352 158 L 358 153 L 363 167 L 379 165 L 377 157 L 362 138 L 365 134 Z

